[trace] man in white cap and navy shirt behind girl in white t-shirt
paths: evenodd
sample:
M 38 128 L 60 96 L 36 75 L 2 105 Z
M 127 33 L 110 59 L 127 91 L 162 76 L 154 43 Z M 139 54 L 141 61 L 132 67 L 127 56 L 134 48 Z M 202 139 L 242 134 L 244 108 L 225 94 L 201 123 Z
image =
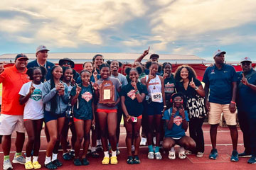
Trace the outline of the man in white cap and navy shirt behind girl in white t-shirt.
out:
M 45 45 L 39 45 L 36 48 L 36 60 L 29 62 L 27 68 L 43 66 L 47 69 L 46 80 L 50 79 L 50 69 L 55 65 L 47 61 L 48 48 Z M 43 82 L 44 79 L 41 79 Z

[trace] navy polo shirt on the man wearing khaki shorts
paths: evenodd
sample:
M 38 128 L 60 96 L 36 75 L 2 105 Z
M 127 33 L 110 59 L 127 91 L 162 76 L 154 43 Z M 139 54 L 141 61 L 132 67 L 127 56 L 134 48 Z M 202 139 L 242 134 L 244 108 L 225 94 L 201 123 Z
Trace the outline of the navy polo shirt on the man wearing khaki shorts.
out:
M 218 69 L 215 64 L 206 69 L 203 82 L 209 84 L 209 102 L 218 104 L 229 104 L 232 100 L 232 83 L 237 81 L 237 74 L 233 66 L 223 64 Z

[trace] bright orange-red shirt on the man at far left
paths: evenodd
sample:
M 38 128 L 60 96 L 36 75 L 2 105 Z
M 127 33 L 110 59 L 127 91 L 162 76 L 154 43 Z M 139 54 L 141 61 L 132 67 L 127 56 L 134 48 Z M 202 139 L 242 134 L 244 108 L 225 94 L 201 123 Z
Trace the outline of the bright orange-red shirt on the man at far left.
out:
M 3 83 L 3 94 L 1 104 L 1 114 L 23 115 L 24 104 L 18 102 L 19 94 L 23 84 L 29 81 L 29 77 L 24 72 L 18 72 L 16 66 L 7 67 L 0 74 L 0 83 Z

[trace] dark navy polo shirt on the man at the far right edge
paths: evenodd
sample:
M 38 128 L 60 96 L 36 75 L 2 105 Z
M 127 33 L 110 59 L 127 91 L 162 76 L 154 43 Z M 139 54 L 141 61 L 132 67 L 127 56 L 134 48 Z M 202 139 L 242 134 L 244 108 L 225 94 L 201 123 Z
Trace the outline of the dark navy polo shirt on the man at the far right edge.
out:
M 252 76 L 249 76 L 252 74 Z M 249 118 L 256 118 L 256 91 L 250 89 L 249 86 L 242 84 L 242 72 L 237 72 L 238 75 L 238 96 L 237 96 L 237 106 L 238 113 L 245 112 L 248 114 Z M 256 71 L 251 69 L 250 72 L 245 76 L 250 84 L 256 85 Z

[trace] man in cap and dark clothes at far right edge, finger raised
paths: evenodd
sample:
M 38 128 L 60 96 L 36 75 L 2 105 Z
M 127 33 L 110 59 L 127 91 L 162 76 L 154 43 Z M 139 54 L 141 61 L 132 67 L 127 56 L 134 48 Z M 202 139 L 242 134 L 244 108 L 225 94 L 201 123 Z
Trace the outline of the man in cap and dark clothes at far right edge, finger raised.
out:
M 241 60 L 242 72 L 238 74 L 238 120 L 243 134 L 245 151 L 239 157 L 251 157 L 249 164 L 256 164 L 256 71 L 250 57 Z

